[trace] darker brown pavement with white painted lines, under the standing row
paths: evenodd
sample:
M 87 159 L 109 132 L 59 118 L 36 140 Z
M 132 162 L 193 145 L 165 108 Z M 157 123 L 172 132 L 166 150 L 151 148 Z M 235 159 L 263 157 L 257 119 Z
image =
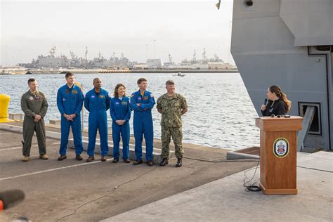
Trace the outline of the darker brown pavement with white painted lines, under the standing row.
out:
M 8 124 L 22 128 L 22 122 Z M 47 125 L 46 131 L 57 135 L 59 127 Z M 95 162 L 77 161 L 72 149 L 60 162 L 60 141 L 56 138 L 46 139 L 50 159 L 43 160 L 39 159 L 35 137 L 30 161 L 22 162 L 21 140 L 21 133 L 0 130 L 0 191 L 20 189 L 26 195 L 22 203 L 2 211 L 0 221 L 20 216 L 32 221 L 100 221 L 256 165 L 206 162 L 225 161 L 228 150 L 192 144 L 184 144 L 181 168 L 176 168 L 175 159 L 163 167 L 122 161 L 113 164 L 112 157 L 100 162 L 98 154 Z M 159 140 L 154 141 L 155 148 L 160 145 Z M 82 156 L 85 160 L 86 152 Z

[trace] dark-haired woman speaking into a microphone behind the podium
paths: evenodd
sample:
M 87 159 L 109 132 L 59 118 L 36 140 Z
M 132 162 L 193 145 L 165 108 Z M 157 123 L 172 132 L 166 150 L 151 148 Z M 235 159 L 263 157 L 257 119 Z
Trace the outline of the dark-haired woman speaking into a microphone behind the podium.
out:
M 292 107 L 292 102 L 287 99 L 287 95 L 282 93 L 280 86 L 269 86 L 267 89 L 267 100 L 261 105 L 261 113 L 264 117 L 271 115 L 286 115 Z

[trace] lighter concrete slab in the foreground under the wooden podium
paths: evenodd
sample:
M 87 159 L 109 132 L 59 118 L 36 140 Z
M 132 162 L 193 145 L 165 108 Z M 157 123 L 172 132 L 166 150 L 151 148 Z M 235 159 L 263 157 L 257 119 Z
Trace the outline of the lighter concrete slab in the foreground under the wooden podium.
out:
M 244 171 L 103 220 L 333 221 L 333 152 L 298 152 L 298 195 L 245 192 Z M 249 178 L 255 168 L 247 171 Z M 254 181 L 259 181 L 259 169 Z

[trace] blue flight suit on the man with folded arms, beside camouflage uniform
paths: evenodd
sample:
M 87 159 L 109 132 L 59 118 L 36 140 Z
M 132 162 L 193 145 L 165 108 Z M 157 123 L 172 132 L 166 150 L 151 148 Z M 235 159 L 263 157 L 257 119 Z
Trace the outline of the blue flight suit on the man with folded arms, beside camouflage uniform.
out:
M 136 105 L 141 103 L 141 106 Z M 132 93 L 131 108 L 134 110 L 133 128 L 136 138 L 136 160 L 142 159 L 142 140 L 145 135 L 146 161 L 152 160 L 154 131 L 152 126 L 152 107 L 155 105 L 154 96 L 150 91 L 145 91 L 143 96 L 139 91 Z

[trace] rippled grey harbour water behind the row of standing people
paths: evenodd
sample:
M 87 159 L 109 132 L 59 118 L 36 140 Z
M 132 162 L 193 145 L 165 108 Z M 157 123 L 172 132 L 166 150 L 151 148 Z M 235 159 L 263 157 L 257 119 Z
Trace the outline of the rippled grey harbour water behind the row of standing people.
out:
M 8 112 L 22 112 L 20 97 L 28 90 L 27 79 L 35 78 L 39 90 L 48 98 L 48 119 L 60 119 L 56 105 L 57 91 L 65 84 L 65 74 L 0 75 L 0 93 L 11 96 Z M 93 78 L 102 79 L 103 88 L 113 96 L 118 83 L 126 86 L 127 95 L 137 91 L 136 81 L 148 79 L 148 90 L 155 100 L 166 92 L 165 81 L 174 79 L 176 91 L 188 101 L 188 112 L 183 115 L 183 142 L 207 145 L 214 148 L 240 148 L 259 145 L 259 129 L 254 124 L 258 117 L 240 74 L 235 73 L 189 73 L 185 77 L 172 74 L 76 74 L 76 81 L 84 86 L 84 93 L 93 88 Z M 264 96 L 264 95 L 263 95 Z M 160 138 L 161 115 L 153 108 L 154 137 Z M 133 118 L 133 112 L 132 112 Z M 85 110 L 84 126 L 88 126 Z M 132 121 L 131 121 L 132 122 Z M 111 117 L 108 115 L 109 127 Z M 133 127 L 131 126 L 133 134 Z

